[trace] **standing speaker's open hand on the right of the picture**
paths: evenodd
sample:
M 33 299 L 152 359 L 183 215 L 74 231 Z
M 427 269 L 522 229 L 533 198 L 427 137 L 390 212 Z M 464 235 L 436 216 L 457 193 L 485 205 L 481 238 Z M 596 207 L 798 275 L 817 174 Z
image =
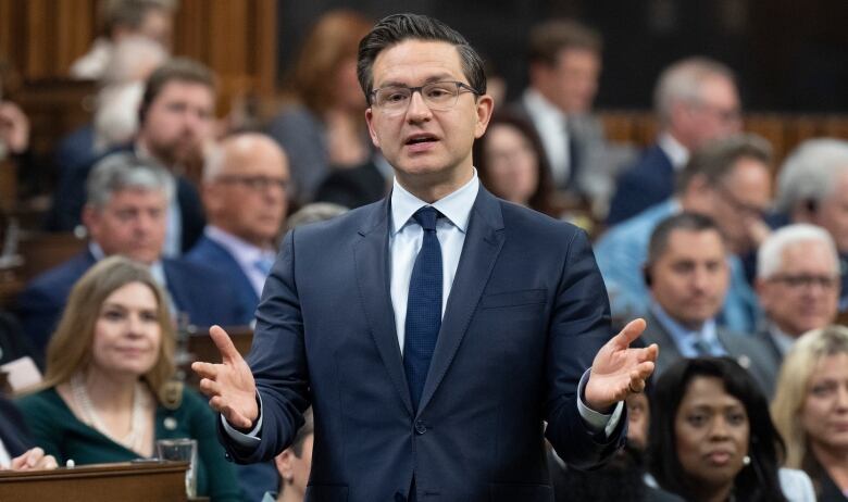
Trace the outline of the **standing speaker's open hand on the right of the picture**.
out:
M 604 412 L 645 389 L 645 380 L 653 373 L 660 351 L 657 343 L 645 349 L 629 348 L 645 326 L 644 319 L 631 321 L 598 351 L 585 389 L 586 405 L 590 409 Z

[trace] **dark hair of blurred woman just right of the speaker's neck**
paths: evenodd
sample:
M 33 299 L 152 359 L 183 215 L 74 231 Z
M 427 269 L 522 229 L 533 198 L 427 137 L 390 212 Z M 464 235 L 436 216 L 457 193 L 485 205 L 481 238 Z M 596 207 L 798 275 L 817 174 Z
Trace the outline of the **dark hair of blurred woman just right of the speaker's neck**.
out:
M 553 176 L 550 173 L 548 156 L 545 154 L 545 149 L 541 146 L 541 140 L 536 133 L 536 128 L 533 127 L 533 124 L 527 120 L 510 111 L 495 113 L 491 116 L 491 121 L 489 121 L 488 130 L 491 130 L 498 125 L 508 125 L 517 129 L 519 133 L 529 141 L 533 151 L 536 152 L 539 183 L 536 186 L 536 191 L 534 191 L 529 198 L 529 206 L 540 213 L 548 214 L 549 216 L 559 217 L 563 208 L 560 208 L 556 202 L 557 190 L 553 185 Z M 481 183 L 487 188 L 489 188 L 490 185 L 491 172 L 490 166 L 486 162 L 484 151 L 489 141 L 489 135 L 483 135 L 479 139 L 474 141 L 472 150 L 472 158 L 474 159 L 474 166 L 477 168 L 477 175 L 479 175 Z M 495 194 L 501 197 L 500 193 Z

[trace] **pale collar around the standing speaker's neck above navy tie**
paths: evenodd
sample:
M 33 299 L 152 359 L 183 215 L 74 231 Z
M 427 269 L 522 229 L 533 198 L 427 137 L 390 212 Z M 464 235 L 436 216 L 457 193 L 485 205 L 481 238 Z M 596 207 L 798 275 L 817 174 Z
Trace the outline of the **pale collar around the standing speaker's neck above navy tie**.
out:
M 463 185 L 459 190 L 442 197 L 432 204 L 413 196 L 406 188 L 401 187 L 396 177 L 391 189 L 391 235 L 394 236 L 403 228 L 415 211 L 425 205 L 432 205 L 444 214 L 450 223 L 453 224 L 463 234 L 469 226 L 471 209 L 474 206 L 474 200 L 479 191 L 479 179 L 477 170 L 474 170 L 471 180 Z

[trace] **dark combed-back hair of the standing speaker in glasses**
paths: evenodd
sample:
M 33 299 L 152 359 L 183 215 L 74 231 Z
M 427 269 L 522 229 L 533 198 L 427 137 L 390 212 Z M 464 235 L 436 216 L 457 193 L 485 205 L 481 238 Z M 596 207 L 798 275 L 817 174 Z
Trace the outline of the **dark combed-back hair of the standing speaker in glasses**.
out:
M 434 40 L 457 48 L 462 61 L 462 73 L 477 95 L 486 93 L 486 73 L 483 59 L 465 37 L 445 23 L 421 14 L 392 14 L 382 18 L 359 42 L 357 76 L 365 99 L 371 103 L 374 90 L 374 60 L 384 50 L 404 40 Z

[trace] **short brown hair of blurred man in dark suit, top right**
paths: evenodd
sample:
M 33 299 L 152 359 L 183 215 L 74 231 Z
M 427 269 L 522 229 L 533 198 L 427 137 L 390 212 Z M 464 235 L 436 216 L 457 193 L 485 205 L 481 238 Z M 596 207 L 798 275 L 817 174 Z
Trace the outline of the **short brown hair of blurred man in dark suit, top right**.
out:
M 576 21 L 551 20 L 531 29 L 527 46 L 527 61 L 552 65 L 566 49 L 583 49 L 600 55 L 603 41 L 598 32 Z

